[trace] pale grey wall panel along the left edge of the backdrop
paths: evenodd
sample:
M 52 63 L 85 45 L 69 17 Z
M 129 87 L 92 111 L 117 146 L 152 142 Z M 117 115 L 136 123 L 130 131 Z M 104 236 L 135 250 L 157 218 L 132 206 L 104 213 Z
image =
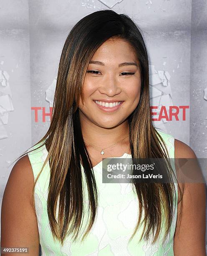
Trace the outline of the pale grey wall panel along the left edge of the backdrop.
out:
M 27 1 L 0 1 L 0 205 L 12 162 L 31 145 Z

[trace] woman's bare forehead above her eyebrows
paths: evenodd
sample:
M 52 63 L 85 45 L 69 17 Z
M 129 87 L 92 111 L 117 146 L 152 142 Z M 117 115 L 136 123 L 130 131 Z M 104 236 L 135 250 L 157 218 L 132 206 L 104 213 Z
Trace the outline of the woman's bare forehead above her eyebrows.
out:
M 113 62 L 138 61 L 134 47 L 126 40 L 113 38 L 105 41 L 93 54 L 93 60 L 101 59 Z

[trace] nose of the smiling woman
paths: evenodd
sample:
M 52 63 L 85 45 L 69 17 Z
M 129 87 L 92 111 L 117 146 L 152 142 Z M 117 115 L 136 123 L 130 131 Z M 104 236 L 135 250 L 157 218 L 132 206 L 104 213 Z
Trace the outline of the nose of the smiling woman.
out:
M 100 93 L 113 97 L 121 92 L 121 84 L 114 74 L 107 74 L 98 86 Z

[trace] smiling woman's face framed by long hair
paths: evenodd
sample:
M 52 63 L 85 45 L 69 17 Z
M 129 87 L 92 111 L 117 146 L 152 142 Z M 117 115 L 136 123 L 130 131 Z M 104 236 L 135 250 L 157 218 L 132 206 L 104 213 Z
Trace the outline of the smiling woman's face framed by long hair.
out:
M 84 104 L 80 100 L 78 106 L 81 121 L 103 128 L 123 123 L 138 105 L 140 89 L 141 74 L 134 49 L 124 40 L 107 40 L 88 65 Z M 109 100 L 111 103 L 106 103 Z

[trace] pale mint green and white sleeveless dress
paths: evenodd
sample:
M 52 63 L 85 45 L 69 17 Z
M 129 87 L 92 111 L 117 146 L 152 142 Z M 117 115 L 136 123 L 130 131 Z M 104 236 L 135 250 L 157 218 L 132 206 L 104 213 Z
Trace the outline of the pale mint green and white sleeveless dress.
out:
M 174 137 L 159 131 L 159 134 L 166 143 L 169 157 L 174 158 Z M 35 145 L 30 149 L 40 146 Z M 29 149 L 29 150 L 30 150 Z M 29 151 L 28 150 L 28 151 Z M 41 167 L 48 155 L 45 145 L 28 153 L 33 169 L 34 178 L 37 177 Z M 131 158 L 131 155 L 124 153 L 122 158 Z M 172 164 L 175 172 L 175 167 Z M 83 171 L 83 166 L 81 165 Z M 136 226 L 139 204 L 137 196 L 132 189 L 132 183 L 102 183 L 102 161 L 93 167 L 98 189 L 98 211 L 95 222 L 86 239 L 81 242 L 71 240 L 67 236 L 61 246 L 57 240 L 53 240 L 47 213 L 48 184 L 50 177 L 49 163 L 45 165 L 43 171 L 35 185 L 35 212 L 38 222 L 39 240 L 41 255 L 43 256 L 173 256 L 174 231 L 177 220 L 177 183 L 176 197 L 174 200 L 174 214 L 170 232 L 164 244 L 157 241 L 152 244 L 152 238 L 148 241 L 144 239 L 139 242 L 142 229 L 138 228 L 134 238 L 129 242 Z M 175 172 L 176 175 L 176 172 Z M 86 180 L 83 175 L 83 190 L 86 193 Z M 88 209 L 88 198 L 84 200 L 85 211 Z M 58 215 L 56 215 L 58 216 Z M 86 215 L 87 216 L 87 215 Z M 83 224 L 87 227 L 87 218 Z M 81 228 L 84 233 L 85 226 Z M 164 236 L 164 227 L 161 229 L 160 238 Z M 81 233 L 81 234 L 83 234 Z M 82 236 L 81 236 L 82 238 Z

